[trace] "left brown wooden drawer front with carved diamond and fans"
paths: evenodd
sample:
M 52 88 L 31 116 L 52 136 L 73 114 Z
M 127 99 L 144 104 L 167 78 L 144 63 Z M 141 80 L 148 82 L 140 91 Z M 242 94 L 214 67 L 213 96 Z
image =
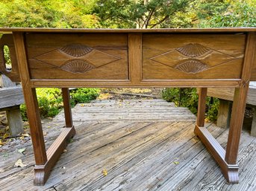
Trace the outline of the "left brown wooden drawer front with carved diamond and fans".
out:
M 31 79 L 128 80 L 127 34 L 28 33 Z

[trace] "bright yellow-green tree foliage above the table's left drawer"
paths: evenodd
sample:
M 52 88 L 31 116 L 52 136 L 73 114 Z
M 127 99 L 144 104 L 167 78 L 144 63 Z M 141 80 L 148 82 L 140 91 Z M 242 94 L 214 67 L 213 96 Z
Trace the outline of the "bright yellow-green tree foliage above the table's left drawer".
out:
M 99 27 L 92 14 L 95 0 L 1 1 L 1 27 Z

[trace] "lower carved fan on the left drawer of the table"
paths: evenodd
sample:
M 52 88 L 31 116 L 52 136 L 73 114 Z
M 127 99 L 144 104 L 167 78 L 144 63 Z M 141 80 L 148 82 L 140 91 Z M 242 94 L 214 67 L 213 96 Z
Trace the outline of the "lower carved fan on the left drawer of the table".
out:
M 67 61 L 64 65 L 60 67 L 64 71 L 69 71 L 72 73 L 84 73 L 95 68 L 94 65 L 86 62 L 83 59 L 72 59 Z

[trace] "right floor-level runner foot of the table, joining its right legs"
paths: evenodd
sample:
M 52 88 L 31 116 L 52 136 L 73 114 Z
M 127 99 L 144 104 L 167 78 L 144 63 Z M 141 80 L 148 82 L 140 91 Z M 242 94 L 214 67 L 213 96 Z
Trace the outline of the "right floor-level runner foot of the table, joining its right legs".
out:
M 238 184 L 238 165 L 228 164 L 225 161 L 225 150 L 217 142 L 217 140 L 208 132 L 204 126 L 195 127 L 195 134 L 199 136 L 202 143 L 205 144 L 206 148 L 213 155 L 215 161 L 219 164 L 222 170 L 222 174 L 230 184 Z

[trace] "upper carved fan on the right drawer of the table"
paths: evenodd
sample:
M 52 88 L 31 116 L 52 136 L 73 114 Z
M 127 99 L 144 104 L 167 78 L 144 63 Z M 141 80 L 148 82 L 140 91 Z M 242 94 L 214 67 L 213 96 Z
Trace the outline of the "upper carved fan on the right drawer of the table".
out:
M 176 50 L 178 52 L 180 52 L 181 54 L 184 54 L 185 56 L 197 57 L 197 56 L 201 56 L 201 55 L 209 52 L 210 48 L 207 48 L 198 43 L 196 43 L 196 44 L 190 43 L 190 44 L 184 45 L 180 48 L 176 48 Z

